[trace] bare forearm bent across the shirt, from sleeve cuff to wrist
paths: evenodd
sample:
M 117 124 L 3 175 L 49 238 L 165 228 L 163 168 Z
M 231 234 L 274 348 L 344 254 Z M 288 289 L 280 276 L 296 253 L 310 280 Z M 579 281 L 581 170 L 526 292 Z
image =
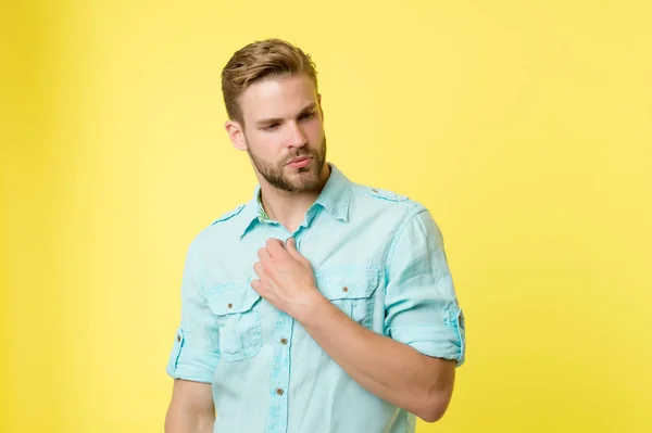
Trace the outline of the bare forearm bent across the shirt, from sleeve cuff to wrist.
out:
M 430 422 L 446 411 L 454 361 L 425 356 L 369 331 L 325 298 L 297 319 L 324 352 L 371 393 Z

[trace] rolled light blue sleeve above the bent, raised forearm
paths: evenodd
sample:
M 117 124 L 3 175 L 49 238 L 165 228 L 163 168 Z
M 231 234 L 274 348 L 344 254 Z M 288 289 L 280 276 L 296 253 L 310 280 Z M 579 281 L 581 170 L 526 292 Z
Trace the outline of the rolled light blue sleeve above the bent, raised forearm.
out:
M 385 333 L 437 358 L 465 360 L 464 314 L 441 232 L 421 208 L 399 229 L 388 255 Z

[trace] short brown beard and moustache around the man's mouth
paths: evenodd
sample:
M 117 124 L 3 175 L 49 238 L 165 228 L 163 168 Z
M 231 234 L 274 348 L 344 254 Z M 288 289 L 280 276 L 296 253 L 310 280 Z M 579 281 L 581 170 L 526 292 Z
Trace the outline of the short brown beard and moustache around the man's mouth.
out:
M 247 149 L 255 169 L 273 187 L 287 192 L 306 192 L 317 189 L 322 184 L 322 168 L 326 163 L 326 136 L 322 140 L 319 149 L 310 151 L 304 148 L 298 149 L 278 163 L 269 163 L 259 158 Z M 296 169 L 296 173 L 286 175 L 287 164 L 302 156 L 310 156 L 312 161 L 305 167 Z M 291 168 L 290 168 L 291 169 Z

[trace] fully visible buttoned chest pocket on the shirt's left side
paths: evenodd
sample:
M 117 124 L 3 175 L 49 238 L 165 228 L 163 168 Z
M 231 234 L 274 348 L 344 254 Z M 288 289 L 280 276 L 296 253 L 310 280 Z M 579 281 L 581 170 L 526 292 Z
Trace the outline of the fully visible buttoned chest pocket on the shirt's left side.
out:
M 222 360 L 242 360 L 260 352 L 263 345 L 260 300 L 261 295 L 249 283 L 217 286 L 209 293 L 209 308 L 220 327 Z

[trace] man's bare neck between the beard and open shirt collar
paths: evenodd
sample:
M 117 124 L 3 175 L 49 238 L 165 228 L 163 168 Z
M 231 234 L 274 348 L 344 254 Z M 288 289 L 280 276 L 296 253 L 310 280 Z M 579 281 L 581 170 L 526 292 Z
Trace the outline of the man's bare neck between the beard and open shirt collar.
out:
M 327 164 L 324 166 L 322 184 L 313 191 L 288 192 L 274 188 L 267 182 L 260 182 L 261 202 L 269 219 L 280 222 L 289 232 L 293 233 L 330 177 L 330 168 Z

